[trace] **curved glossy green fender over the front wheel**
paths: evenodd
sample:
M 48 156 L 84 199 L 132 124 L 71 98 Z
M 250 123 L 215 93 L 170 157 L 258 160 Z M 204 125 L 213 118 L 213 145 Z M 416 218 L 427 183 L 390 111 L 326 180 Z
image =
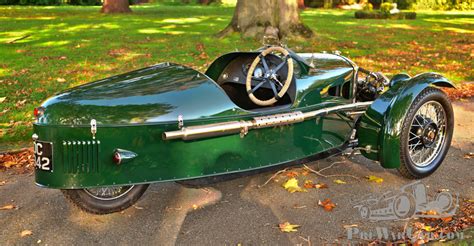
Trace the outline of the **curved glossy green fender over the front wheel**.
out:
M 400 166 L 400 134 L 403 120 L 415 98 L 429 86 L 454 84 L 437 73 L 423 73 L 397 81 L 380 95 L 361 117 L 357 128 L 362 154 L 385 168 Z

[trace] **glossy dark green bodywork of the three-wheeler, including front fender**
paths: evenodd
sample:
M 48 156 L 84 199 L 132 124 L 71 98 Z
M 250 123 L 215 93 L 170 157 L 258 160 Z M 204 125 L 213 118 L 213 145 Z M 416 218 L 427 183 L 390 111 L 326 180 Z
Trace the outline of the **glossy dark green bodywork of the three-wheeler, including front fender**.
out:
M 203 74 L 162 63 L 59 93 L 43 104 L 34 124 L 37 141 L 52 144 L 52 170 L 36 170 L 40 186 L 76 189 L 178 181 L 292 163 L 347 146 L 357 130 L 363 154 L 384 167 L 399 165 L 396 148 L 407 105 L 432 84 L 452 86 L 437 74 L 403 77 L 375 100 L 359 121 L 345 112 L 295 124 L 196 140 L 164 140 L 185 126 L 245 121 L 355 102 L 358 67 L 332 54 L 291 53 L 295 61 L 291 104 L 264 110 L 237 106 L 215 82 L 233 59 L 258 52 L 229 53 Z M 315 65 L 312 67 L 310 63 Z M 396 82 L 396 83 L 395 83 Z M 97 132 L 91 132 L 91 120 Z M 352 136 L 353 138 L 353 136 Z M 136 157 L 114 162 L 117 150 Z

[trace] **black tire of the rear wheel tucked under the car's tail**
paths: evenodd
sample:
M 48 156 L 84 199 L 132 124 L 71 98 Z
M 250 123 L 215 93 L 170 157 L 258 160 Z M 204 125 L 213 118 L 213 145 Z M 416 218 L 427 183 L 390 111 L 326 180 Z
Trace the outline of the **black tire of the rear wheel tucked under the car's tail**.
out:
M 148 188 L 148 184 L 123 186 L 126 193 L 107 199 L 94 196 L 87 189 L 61 190 L 64 197 L 79 209 L 93 214 L 109 214 L 122 211 L 138 201 Z

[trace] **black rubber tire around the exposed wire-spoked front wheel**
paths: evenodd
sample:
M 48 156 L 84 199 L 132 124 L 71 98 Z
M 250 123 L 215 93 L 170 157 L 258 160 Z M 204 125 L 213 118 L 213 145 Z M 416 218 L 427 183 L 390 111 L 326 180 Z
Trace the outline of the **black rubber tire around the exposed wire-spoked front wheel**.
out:
M 425 103 L 428 102 L 437 102 L 439 103 L 446 116 L 446 128 L 445 128 L 445 139 L 441 143 L 438 153 L 432 157 L 432 160 L 424 165 L 416 165 L 411 157 L 409 152 L 409 137 L 410 131 L 412 131 L 412 122 L 418 112 L 418 109 L 422 107 Z M 446 94 L 434 87 L 428 87 L 424 89 L 415 99 L 415 101 L 410 106 L 408 113 L 405 117 L 402 126 L 402 132 L 400 137 L 400 161 L 401 165 L 398 168 L 398 171 L 408 179 L 420 179 L 431 175 L 436 171 L 443 162 L 446 154 L 448 153 L 449 147 L 451 146 L 451 139 L 453 137 L 453 127 L 454 127 L 454 113 L 451 106 L 451 102 Z

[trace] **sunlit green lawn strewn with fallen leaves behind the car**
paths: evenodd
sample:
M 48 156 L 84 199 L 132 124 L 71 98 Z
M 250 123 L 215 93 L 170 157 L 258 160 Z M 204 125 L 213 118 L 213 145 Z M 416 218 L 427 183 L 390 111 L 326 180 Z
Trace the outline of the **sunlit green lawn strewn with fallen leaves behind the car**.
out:
M 103 15 L 99 7 L 0 7 L 1 144 L 29 140 L 33 108 L 63 89 L 162 61 L 204 71 L 223 53 L 261 46 L 238 35 L 214 37 L 230 21 L 230 7 L 132 9 L 132 14 Z M 306 10 L 302 17 L 316 35 L 289 40 L 288 46 L 304 52 L 340 50 L 389 75 L 436 71 L 456 83 L 474 80 L 474 12 L 423 12 L 414 21 L 353 16 Z

